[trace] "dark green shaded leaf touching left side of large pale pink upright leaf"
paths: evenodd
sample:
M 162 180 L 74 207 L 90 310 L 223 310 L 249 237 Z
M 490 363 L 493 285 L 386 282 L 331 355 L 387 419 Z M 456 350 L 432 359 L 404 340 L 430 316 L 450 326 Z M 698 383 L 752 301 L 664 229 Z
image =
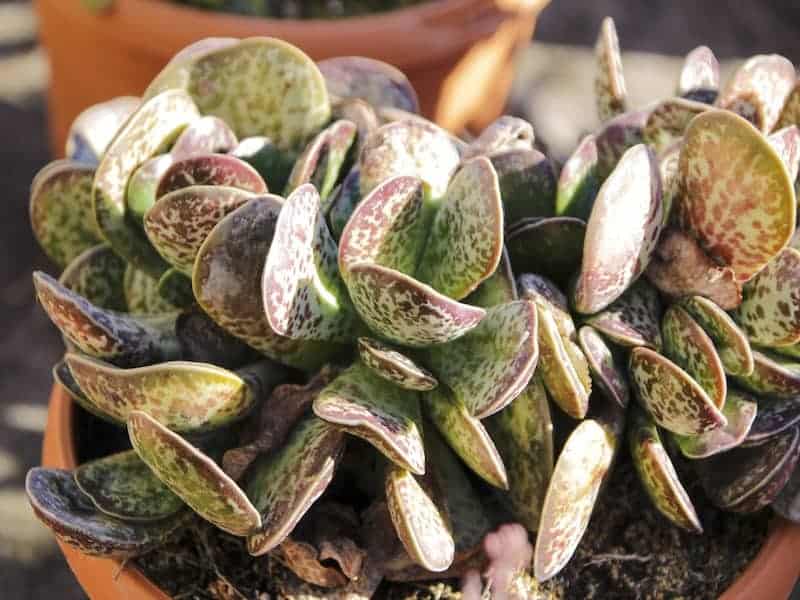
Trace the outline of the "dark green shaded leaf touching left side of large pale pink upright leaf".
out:
M 586 223 L 574 217 L 519 221 L 506 239 L 514 271 L 566 284 L 581 267 L 585 235 Z

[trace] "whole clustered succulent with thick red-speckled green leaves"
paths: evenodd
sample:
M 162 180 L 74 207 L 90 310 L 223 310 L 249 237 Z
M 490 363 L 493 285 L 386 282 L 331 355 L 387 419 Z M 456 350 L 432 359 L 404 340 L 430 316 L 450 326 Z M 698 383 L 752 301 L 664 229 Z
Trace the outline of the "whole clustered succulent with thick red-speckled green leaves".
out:
M 481 568 L 514 520 L 545 580 L 627 429 L 677 526 L 702 530 L 673 460 L 723 509 L 800 520 L 794 67 L 718 92 L 701 47 L 628 110 L 610 20 L 597 55 L 603 124 L 560 173 L 520 119 L 465 141 L 388 65 L 266 38 L 81 115 L 33 182 L 64 267 L 34 283 L 56 379 L 133 449 L 33 469 L 37 515 L 114 557 L 199 515 L 364 596 Z

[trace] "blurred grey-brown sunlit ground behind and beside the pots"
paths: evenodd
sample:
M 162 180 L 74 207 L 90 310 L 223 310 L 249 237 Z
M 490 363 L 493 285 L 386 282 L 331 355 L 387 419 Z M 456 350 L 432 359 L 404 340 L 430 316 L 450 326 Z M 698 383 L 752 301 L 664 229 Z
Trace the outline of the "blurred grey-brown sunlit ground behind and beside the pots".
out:
M 756 53 L 800 62 L 795 0 L 551 0 L 519 58 L 509 110 L 533 122 L 554 158 L 596 125 L 592 46 L 606 15 L 616 20 L 634 105 L 670 94 L 682 56 L 700 44 L 723 61 L 723 74 Z M 31 2 L 0 0 L 0 598 L 8 600 L 85 598 L 22 489 L 39 462 L 50 367 L 62 352 L 30 277 L 33 269 L 55 274 L 27 209 L 30 181 L 51 159 L 47 82 Z

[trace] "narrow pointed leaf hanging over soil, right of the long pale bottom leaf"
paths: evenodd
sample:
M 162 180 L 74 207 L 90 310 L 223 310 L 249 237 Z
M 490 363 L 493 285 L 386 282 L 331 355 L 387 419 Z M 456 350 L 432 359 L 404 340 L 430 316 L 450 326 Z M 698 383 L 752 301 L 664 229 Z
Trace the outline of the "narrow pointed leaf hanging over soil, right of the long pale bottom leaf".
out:
M 658 429 L 641 409 L 634 410 L 628 441 L 639 481 L 658 512 L 682 529 L 702 533 L 697 511 L 661 443 Z

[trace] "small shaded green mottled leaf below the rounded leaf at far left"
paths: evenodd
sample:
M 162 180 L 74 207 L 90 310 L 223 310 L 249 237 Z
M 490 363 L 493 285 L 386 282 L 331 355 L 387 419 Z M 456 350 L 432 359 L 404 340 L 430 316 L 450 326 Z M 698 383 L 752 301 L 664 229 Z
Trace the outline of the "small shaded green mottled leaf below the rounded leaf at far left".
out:
M 106 244 L 89 248 L 67 265 L 59 283 L 99 308 L 127 309 L 125 261 Z

